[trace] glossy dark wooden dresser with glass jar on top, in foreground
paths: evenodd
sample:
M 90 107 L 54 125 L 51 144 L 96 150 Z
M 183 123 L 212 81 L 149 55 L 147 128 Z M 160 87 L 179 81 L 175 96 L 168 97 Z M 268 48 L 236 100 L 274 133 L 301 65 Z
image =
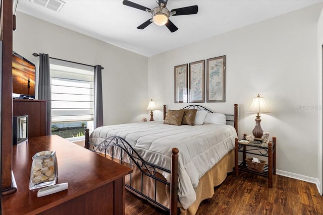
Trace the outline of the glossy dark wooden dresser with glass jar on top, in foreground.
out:
M 29 190 L 32 156 L 56 151 L 58 183 L 68 189 L 37 197 Z M 2 214 L 125 214 L 125 175 L 132 169 L 57 135 L 29 138 L 13 146 L 17 192 L 1 197 Z

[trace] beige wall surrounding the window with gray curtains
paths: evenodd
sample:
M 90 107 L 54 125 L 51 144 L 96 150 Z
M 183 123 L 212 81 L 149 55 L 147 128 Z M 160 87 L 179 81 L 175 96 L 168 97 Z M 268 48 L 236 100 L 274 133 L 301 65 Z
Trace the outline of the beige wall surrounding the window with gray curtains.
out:
M 104 125 L 148 117 L 147 57 L 20 12 L 13 33 L 13 49 L 35 64 L 38 57 L 31 55 L 34 52 L 102 65 Z

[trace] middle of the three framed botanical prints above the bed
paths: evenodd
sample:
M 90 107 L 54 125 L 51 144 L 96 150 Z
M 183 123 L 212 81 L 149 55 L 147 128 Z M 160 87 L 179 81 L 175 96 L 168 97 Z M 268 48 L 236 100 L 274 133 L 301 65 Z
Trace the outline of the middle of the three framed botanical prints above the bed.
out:
M 205 102 L 204 77 L 205 60 L 189 64 L 189 102 Z

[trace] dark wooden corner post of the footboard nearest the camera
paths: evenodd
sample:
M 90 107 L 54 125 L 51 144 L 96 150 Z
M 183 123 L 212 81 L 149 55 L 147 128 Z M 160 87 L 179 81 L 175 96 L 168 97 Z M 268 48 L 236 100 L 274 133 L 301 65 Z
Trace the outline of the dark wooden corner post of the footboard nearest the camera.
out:
M 177 214 L 178 152 L 177 148 L 172 149 L 170 214 L 173 215 Z

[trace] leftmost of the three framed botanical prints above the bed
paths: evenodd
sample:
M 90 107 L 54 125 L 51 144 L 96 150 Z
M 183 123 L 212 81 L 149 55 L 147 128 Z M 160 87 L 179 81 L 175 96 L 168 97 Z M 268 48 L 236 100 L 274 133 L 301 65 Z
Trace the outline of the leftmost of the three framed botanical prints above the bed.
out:
M 188 101 L 187 76 L 187 64 L 174 67 L 175 103 L 187 103 Z

